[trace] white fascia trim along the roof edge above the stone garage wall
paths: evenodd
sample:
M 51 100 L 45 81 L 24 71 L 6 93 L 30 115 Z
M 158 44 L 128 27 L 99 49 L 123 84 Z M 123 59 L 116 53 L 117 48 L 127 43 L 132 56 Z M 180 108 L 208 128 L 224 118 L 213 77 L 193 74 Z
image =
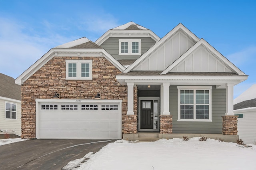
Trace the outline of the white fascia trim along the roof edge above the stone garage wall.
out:
M 33 75 L 38 69 L 40 69 L 45 63 L 47 63 L 54 55 L 53 53 L 57 53 L 58 57 L 58 52 L 88 52 L 88 53 L 93 53 L 93 52 L 98 52 L 99 54 L 102 53 L 110 63 L 112 63 L 114 66 L 116 66 L 120 71 L 124 71 L 126 68 L 119 63 L 114 57 L 112 57 L 107 51 L 104 49 L 72 49 L 72 48 L 52 48 L 50 51 L 48 51 L 46 54 L 44 54 L 38 61 L 36 61 L 33 65 L 31 65 L 24 73 L 22 73 L 17 79 L 15 79 L 15 83 L 18 85 L 22 85 L 26 79 L 30 77 L 30 75 Z M 51 57 L 49 57 L 52 55 Z M 47 57 L 49 57 L 47 60 L 45 60 Z M 34 70 L 34 71 L 33 71 Z M 31 72 L 32 71 L 32 72 Z M 24 78 L 27 76 L 26 78 Z

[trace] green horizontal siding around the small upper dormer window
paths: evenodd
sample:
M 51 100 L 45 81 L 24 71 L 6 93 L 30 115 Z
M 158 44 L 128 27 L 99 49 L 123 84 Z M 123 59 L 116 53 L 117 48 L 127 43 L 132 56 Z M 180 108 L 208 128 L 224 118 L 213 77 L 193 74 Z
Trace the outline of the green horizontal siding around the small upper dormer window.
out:
M 140 39 L 141 40 L 141 55 L 144 54 L 154 43 L 156 43 L 150 37 L 110 37 L 105 42 L 103 42 L 100 46 L 104 48 L 110 55 L 112 55 L 115 59 L 138 59 L 140 55 L 119 55 L 119 39 Z

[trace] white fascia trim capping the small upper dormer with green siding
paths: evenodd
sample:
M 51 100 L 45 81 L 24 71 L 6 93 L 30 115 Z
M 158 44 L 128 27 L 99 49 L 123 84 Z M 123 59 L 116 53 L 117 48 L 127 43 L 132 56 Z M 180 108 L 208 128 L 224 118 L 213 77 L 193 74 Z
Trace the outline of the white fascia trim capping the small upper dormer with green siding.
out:
M 110 34 L 114 34 L 114 33 L 118 33 L 119 35 L 121 34 L 140 34 L 140 33 L 148 33 L 150 34 L 150 37 L 153 38 L 153 40 L 155 40 L 156 42 L 160 40 L 160 38 L 151 30 L 108 30 L 105 34 L 103 34 L 98 40 L 95 41 L 95 43 L 97 45 L 101 45 L 104 41 L 104 39 L 111 37 Z M 122 36 L 118 36 L 118 37 L 122 37 Z M 131 36 L 132 37 L 132 36 Z

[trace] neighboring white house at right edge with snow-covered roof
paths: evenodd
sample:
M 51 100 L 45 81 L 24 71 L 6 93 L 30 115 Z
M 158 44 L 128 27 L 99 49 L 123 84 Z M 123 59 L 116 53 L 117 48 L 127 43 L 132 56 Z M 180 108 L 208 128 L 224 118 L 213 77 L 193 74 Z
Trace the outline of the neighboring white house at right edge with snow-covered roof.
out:
M 234 99 L 238 135 L 247 144 L 256 144 L 256 84 Z

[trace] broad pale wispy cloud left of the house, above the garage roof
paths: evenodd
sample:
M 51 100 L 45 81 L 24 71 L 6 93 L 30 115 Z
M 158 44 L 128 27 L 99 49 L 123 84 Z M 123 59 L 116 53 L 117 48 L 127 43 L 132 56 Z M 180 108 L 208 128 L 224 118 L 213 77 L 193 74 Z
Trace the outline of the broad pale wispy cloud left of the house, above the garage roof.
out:
M 0 18 L 0 73 L 17 78 L 50 48 L 69 42 L 59 34 L 42 37 L 27 23 Z

